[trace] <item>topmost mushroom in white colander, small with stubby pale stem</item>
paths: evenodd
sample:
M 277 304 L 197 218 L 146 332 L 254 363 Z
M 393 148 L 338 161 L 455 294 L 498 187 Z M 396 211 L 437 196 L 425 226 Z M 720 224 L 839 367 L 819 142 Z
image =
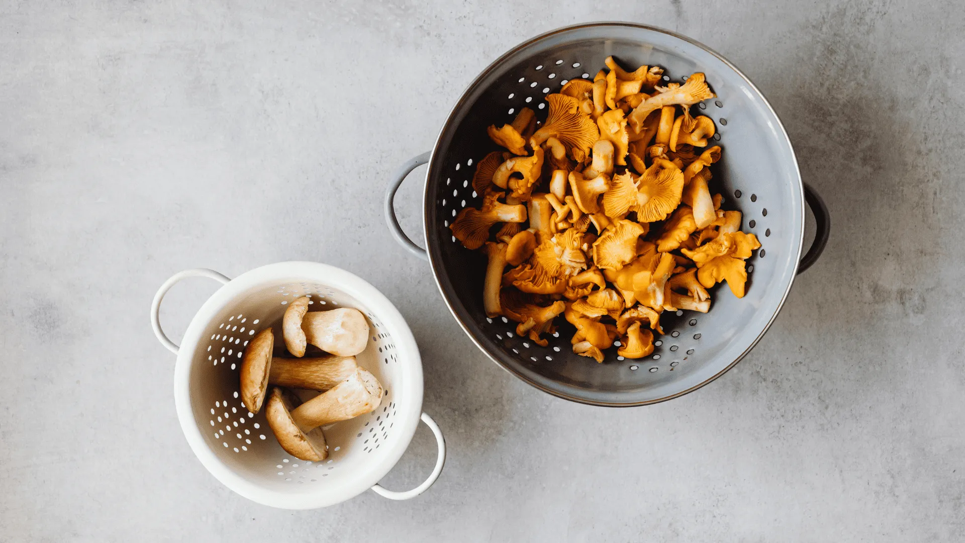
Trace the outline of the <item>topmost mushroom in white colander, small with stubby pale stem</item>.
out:
M 318 349 L 353 357 L 369 343 L 369 323 L 358 309 L 340 307 L 328 311 L 308 311 L 307 297 L 292 300 L 282 319 L 285 346 L 295 357 L 304 357 L 309 343 Z

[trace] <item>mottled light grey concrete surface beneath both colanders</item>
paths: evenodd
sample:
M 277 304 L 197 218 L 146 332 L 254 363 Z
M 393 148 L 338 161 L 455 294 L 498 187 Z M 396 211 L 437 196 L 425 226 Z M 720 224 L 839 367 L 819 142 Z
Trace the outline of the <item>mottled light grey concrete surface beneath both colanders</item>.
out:
M 730 373 L 605 410 L 483 357 L 381 197 L 493 58 L 619 18 L 746 71 L 834 231 Z M 965 540 L 963 58 L 956 2 L 0 2 L 0 541 Z M 154 290 L 291 259 L 411 324 L 450 446 L 419 499 L 271 509 L 185 443 Z M 173 337 L 213 290 L 172 291 Z

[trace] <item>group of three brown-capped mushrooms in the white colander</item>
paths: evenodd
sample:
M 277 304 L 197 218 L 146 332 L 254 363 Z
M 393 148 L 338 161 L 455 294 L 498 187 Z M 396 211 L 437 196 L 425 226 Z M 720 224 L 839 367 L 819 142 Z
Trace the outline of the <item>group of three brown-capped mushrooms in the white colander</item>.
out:
M 274 357 L 275 336 L 263 329 L 252 339 L 241 359 L 241 400 L 248 411 L 265 406 L 268 426 L 291 456 L 319 461 L 328 457 L 321 427 L 372 413 L 382 401 L 382 386 L 359 367 L 355 355 L 369 343 L 369 323 L 357 309 L 308 311 L 311 300 L 290 303 L 282 319 L 282 335 L 297 359 Z M 308 345 L 329 355 L 305 358 Z M 302 403 L 288 388 L 318 390 Z

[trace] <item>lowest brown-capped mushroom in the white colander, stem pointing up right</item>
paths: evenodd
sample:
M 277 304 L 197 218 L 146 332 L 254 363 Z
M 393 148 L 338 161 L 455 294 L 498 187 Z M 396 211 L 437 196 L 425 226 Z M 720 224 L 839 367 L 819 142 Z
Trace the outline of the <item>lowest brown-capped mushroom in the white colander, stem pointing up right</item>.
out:
M 276 386 L 268 398 L 265 416 L 286 452 L 300 460 L 317 462 L 328 456 L 322 426 L 372 413 L 381 401 L 382 386 L 375 376 L 358 368 L 339 385 L 301 405 Z

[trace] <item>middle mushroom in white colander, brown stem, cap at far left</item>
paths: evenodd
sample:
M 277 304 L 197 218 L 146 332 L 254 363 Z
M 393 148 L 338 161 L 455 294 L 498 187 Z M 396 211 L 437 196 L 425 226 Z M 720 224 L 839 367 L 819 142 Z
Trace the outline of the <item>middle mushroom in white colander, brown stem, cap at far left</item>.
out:
M 355 357 L 330 355 L 317 358 L 274 358 L 275 336 L 271 329 L 260 331 L 241 358 L 241 401 L 248 411 L 258 413 L 268 385 L 328 390 L 345 381 L 358 367 Z

